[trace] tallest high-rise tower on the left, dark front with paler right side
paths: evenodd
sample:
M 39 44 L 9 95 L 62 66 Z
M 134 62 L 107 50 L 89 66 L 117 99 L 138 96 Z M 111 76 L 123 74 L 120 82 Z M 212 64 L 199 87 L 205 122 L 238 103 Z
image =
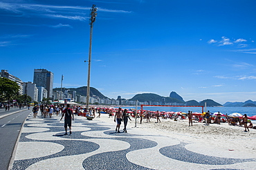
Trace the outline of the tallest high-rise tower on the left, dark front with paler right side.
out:
M 47 90 L 47 97 L 53 97 L 53 73 L 46 69 L 35 69 L 33 82 L 37 86 L 43 86 Z

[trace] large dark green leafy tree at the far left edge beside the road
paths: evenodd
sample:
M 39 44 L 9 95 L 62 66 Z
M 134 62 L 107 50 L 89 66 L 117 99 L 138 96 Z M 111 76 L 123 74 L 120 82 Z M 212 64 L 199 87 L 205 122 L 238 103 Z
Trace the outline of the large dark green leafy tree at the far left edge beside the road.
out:
M 17 82 L 5 77 L 0 78 L 0 102 L 13 100 L 19 94 Z

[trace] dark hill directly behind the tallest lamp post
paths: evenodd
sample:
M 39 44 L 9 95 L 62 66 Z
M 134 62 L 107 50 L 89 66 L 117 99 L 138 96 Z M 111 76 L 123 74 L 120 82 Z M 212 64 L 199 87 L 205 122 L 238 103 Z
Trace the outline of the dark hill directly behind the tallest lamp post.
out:
M 86 96 L 87 95 L 87 86 L 82 86 L 79 88 L 62 88 L 62 91 L 64 92 L 65 90 L 69 90 L 68 93 L 73 93 L 73 91 L 76 91 L 77 95 L 83 95 Z M 53 91 L 60 91 L 60 88 L 53 88 Z M 107 99 L 108 97 L 102 95 L 102 93 L 100 93 L 100 91 L 98 91 L 96 88 L 90 87 L 90 96 L 98 96 L 101 99 Z

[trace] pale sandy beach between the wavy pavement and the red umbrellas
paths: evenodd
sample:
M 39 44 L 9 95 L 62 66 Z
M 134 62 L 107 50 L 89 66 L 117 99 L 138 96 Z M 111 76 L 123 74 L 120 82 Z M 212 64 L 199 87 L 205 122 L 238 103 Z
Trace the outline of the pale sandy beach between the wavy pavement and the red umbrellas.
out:
M 101 114 L 100 118 L 94 120 L 116 124 L 113 118 L 114 116 L 109 118 L 109 115 Z M 122 128 L 123 124 L 120 129 Z M 135 128 L 135 119 L 131 117 L 131 121 L 127 124 L 128 133 L 129 129 L 133 128 Z M 200 151 L 200 153 L 214 156 L 221 156 L 225 152 L 232 155 L 232 158 L 256 158 L 255 129 L 244 132 L 244 127 L 232 126 L 228 123 L 206 126 L 204 123 L 194 122 L 193 126 L 188 126 L 188 120 L 161 119 L 160 123 L 156 123 L 154 118 L 151 118 L 150 122 L 143 119 L 142 124 L 138 118 L 136 129 L 189 143 L 186 147 L 190 147 L 190 151 L 194 152 Z

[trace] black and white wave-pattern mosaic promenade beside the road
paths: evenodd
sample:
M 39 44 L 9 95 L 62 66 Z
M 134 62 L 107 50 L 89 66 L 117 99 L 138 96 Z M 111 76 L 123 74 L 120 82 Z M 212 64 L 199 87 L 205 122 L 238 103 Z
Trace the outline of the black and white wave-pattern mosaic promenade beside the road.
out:
M 104 116 L 104 115 L 103 115 Z M 107 117 L 106 117 L 107 118 Z M 12 169 L 255 169 L 255 158 L 205 155 L 189 143 L 129 128 L 116 133 L 104 119 L 75 116 L 72 134 L 64 135 L 60 116 L 28 116 Z M 130 125 L 130 124 L 129 124 Z

